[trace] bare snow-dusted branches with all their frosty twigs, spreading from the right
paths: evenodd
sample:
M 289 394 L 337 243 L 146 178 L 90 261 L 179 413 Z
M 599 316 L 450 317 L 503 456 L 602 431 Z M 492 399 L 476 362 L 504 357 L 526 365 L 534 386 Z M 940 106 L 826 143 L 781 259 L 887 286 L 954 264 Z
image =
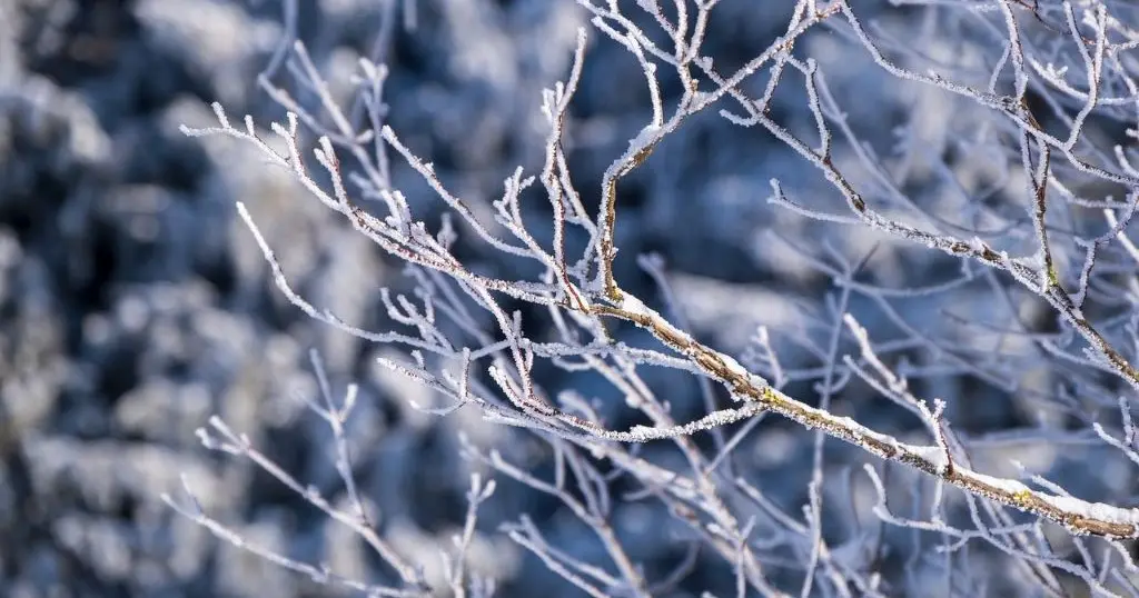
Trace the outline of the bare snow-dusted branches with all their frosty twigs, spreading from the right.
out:
M 583 73 L 589 58 L 590 40 L 584 28 L 577 30 L 573 40 L 565 81 L 544 90 L 540 98 L 541 115 L 549 126 L 544 142 L 535 145 L 541 153 L 533 156 L 541 163 L 540 172 L 528 175 L 518 166 L 499 173 L 501 186 L 491 194 L 493 198 L 486 197 L 485 190 L 453 185 L 444 169 L 417 155 L 413 137 L 388 124 L 383 103 L 387 72 L 383 65 L 369 60 L 359 64 L 354 84 L 370 125 L 359 131 L 355 123 L 360 118 L 337 106 L 317 62 L 300 41 L 290 42 L 288 52 L 274 55 L 262 76 L 262 87 L 288 110 L 284 122 L 269 126 L 276 139 L 267 139 L 252 117 L 245 118 L 243 128 L 233 126 L 219 105 L 214 107 L 218 126 L 183 128 L 183 132 L 228 136 L 251 144 L 316 202 L 338 214 L 345 229 L 351 227 L 407 267 L 415 293 L 386 288 L 378 293 L 380 311 L 386 312 L 393 329 L 366 330 L 314 305 L 297 290 L 277 259 L 277 252 L 285 249 L 271 246 L 256 224 L 256 207 L 252 203 L 249 207 L 238 204 L 238 214 L 276 286 L 290 303 L 343 333 L 399 350 L 402 357 L 378 358 L 380 366 L 416 380 L 443 401 L 416 402 L 412 407 L 440 416 L 460 409 L 477 410 L 484 419 L 524 428 L 542 443 L 552 461 L 544 476 L 494 448 L 465 441 L 464 454 L 499 478 L 555 499 L 584 525 L 599 547 L 598 554 L 607 560 L 604 565 L 554 546 L 525 515 L 509 523 L 506 532 L 588 595 L 653 596 L 657 588 L 680 583 L 678 580 L 687 575 L 696 558 L 658 577 L 637 562 L 613 523 L 612 486 L 620 478 L 631 480 L 634 485 L 622 495 L 623 500 L 654 499 L 680 522 L 688 540 L 711 549 L 727 563 L 735 573 L 732 589 L 739 596 L 748 591 L 787 596 L 779 589 L 782 584 L 773 581 L 778 573 L 768 566 L 777 558 L 778 547 L 784 546 L 793 547 L 798 560 L 782 568 L 802 574 L 796 591 L 804 597 L 819 591 L 851 596 L 855 589 L 867 595 L 888 593 L 880 588 L 877 573 L 867 573 L 872 568 L 868 563 L 880 557 L 877 550 L 868 563 L 854 565 L 857 559 L 845 554 L 850 549 L 823 533 L 825 513 L 834 508 L 833 503 L 842 502 L 825 492 L 831 472 L 823 447 L 830 439 L 859 449 L 860 458 L 869 454 L 882 459 L 884 472 L 890 464 L 900 464 L 920 473 L 923 484 L 932 491 L 915 489 L 912 495 L 932 497 L 931 521 L 891 511 L 885 473 L 879 476 L 871 468 L 870 482 L 878 497 L 874 509 L 885 524 L 936 536 L 947 563 L 960 546 L 977 540 L 1018 559 L 1043 587 L 1057 588 L 1055 572 L 1063 571 L 1084 580 L 1095 591 L 1107 592 L 1106 573 L 1090 573 L 1097 557 L 1079 538 L 1073 546 L 1085 562 L 1081 566 L 1071 565 L 1050 549 L 1038 549 L 1036 544 L 1043 542 L 1041 522 L 1059 525 L 1074 536 L 1097 536 L 1096 541 L 1115 547 L 1118 542 L 1111 543 L 1114 540 L 1139 539 L 1139 509 L 1131 503 L 1075 498 L 1043 475 L 1025 474 L 1022 481 L 982 473 L 989 466 L 978 465 L 984 461 L 974 459 L 974 453 L 997 440 L 970 437 L 950 425 L 950 420 L 961 425 L 954 407 L 977 399 L 968 390 L 960 390 L 957 396 L 911 390 L 910 382 L 954 376 L 981 380 L 1008 400 L 1047 406 L 1033 413 L 1040 420 L 1068 417 L 1085 425 L 1082 435 L 1065 431 L 1049 435 L 1038 429 L 1022 431 L 1013 440 L 1106 444 L 1139 464 L 1130 420 L 1134 393 L 1139 391 L 1139 370 L 1133 366 L 1139 354 L 1139 319 L 1133 316 L 1139 305 L 1139 286 L 1134 282 L 1139 249 L 1128 231 L 1139 202 L 1139 173 L 1132 166 L 1133 150 L 1122 146 L 1103 149 L 1096 130 L 1097 118 L 1116 118 L 1132 126 L 1126 134 L 1139 134 L 1133 120 L 1139 114 L 1137 68 L 1126 55 L 1139 47 L 1139 33 L 1118 17 L 1126 10 L 1106 0 L 1089 2 L 1090 8 L 1066 2 L 1030 7 L 997 0 L 983 10 L 970 2 L 909 2 L 927 5 L 931 11 L 961 11 L 964 16 L 954 23 L 962 31 L 975 28 L 983 39 L 999 40 L 984 48 L 980 66 L 950 68 L 939 63 L 945 60 L 942 56 L 912 51 L 906 40 L 887 34 L 880 23 L 861 17 L 846 0 L 800 0 L 790 9 L 786 27 L 779 27 L 781 33 L 768 47 L 741 66 L 721 71 L 704 48 L 711 35 L 715 1 L 694 5 L 675 0 L 662 8 L 661 2 L 641 0 L 636 2 L 636 10 L 626 10 L 616 1 L 579 3 L 601 33 L 598 38 L 616 43 L 636 62 L 644 75 L 636 84 L 645 88 L 641 91 L 647 92 L 648 101 L 641 115 L 644 122 L 628 146 L 607 156 L 612 162 L 598 169 L 592 192 L 582 191 L 579 173 L 571 172 L 575 164 L 571 156 L 574 145 L 570 142 L 575 124 L 571 107 L 575 93 L 585 87 Z M 661 31 L 646 32 L 646 23 Z M 926 26 L 935 27 L 936 19 Z M 837 35 L 819 41 L 825 30 Z M 945 147 L 923 147 L 913 131 L 917 124 L 903 123 L 892 132 L 896 138 L 893 154 L 883 151 L 863 139 L 867 133 L 862 125 L 847 115 L 849 109 L 861 109 L 854 104 L 862 99 L 853 100 L 841 89 L 843 73 L 835 60 L 813 55 L 814 44 L 843 39 L 847 43 L 844 51 L 860 51 L 876 73 L 899 84 L 913 84 L 923 92 L 942 93 L 950 98 L 947 101 L 977 109 L 989 120 L 982 120 L 984 126 L 975 126 L 978 131 L 970 129 L 972 122 L 945 124 L 943 129 L 954 133 L 957 129 L 969 129 L 957 137 L 939 133 Z M 1056 47 L 1065 48 L 1066 54 Z M 1054 64 L 1060 58 L 1063 67 Z M 308 101 L 295 98 L 284 83 L 270 81 L 282 65 L 306 91 Z M 1080 77 L 1071 80 L 1068 71 L 1079 72 Z M 764 73 L 767 80 L 762 80 Z M 797 121 L 784 122 L 780 103 L 786 103 L 786 95 L 803 103 Z M 1038 97 L 1043 99 L 1038 101 Z M 749 128 L 767 136 L 787 156 L 801 159 L 808 171 L 813 169 L 819 175 L 813 187 L 790 181 L 789 177 L 770 180 L 769 204 L 781 208 L 780 218 L 829 227 L 826 230 L 861 230 L 874 239 L 870 251 L 860 249 L 863 257 L 855 265 L 835 267 L 835 261 L 844 261 L 843 251 L 830 239 L 805 238 L 801 243 L 794 239 L 793 227 L 763 236 L 756 243 L 757 253 L 787 249 L 809 270 L 829 279 L 837 292 L 829 296 L 827 317 L 797 335 L 773 326 L 752 328 L 757 333 L 740 360 L 718 349 L 716 341 L 705 338 L 695 319 L 686 317 L 686 297 L 670 285 L 663 260 L 628 257 L 630 264 L 638 261 L 663 295 L 665 308 L 659 311 L 649 306 L 655 304 L 652 297 L 629 290 L 633 287 L 624 286 L 620 280 L 623 275 L 618 276 L 626 265 L 621 261 L 626 257 L 618 255 L 625 185 L 652 170 L 657 153 L 681 139 L 687 126 L 695 126 L 699 118 L 714 120 L 715 114 L 705 114 L 712 113 L 713 106 L 722 116 L 716 120 L 719 124 Z M 912 118 L 953 117 L 953 110 L 945 110 Z M 974 117 L 973 113 L 969 117 Z M 305 128 L 318 136 L 311 157 L 304 149 Z M 398 158 L 395 163 L 388 159 L 388 151 Z M 992 180 L 959 180 L 951 161 L 976 156 L 995 163 L 994 174 L 986 174 Z M 312 158 L 314 165 L 310 164 Z M 310 171 L 313 167 L 316 171 Z M 401 192 L 393 170 L 429 191 L 415 197 L 408 188 Z M 909 178 L 912 171 L 920 171 L 913 177 L 916 181 Z M 936 192 L 924 197 L 924 191 L 916 191 L 924 186 Z M 1125 200 L 1109 196 L 1105 188 L 1116 194 L 1122 190 Z M 530 198 L 543 192 L 540 213 L 550 221 L 538 224 Z M 1096 213 L 1093 224 L 1082 216 L 1081 211 L 1089 208 Z M 708 207 L 708 212 L 712 210 Z M 424 212 L 445 215 L 436 223 Z M 1106 221 L 1106 231 L 1101 220 Z M 902 288 L 871 281 L 866 271 L 878 259 L 878 247 L 890 243 L 918 251 L 927 247 L 935 268 L 951 264 L 951 278 Z M 466 249 L 470 247 L 498 255 L 510 267 L 497 271 L 485 268 L 468 257 L 472 253 Z M 894 264 L 896 271 L 909 268 L 901 262 Z M 959 316 L 950 304 L 937 310 L 939 323 L 959 328 L 954 334 L 939 334 L 909 321 L 898 306 L 950 293 L 968 296 L 975 287 L 991 292 L 985 295 L 994 300 L 991 309 L 1010 314 L 1010 321 L 1002 322 L 999 316 Z M 1034 303 L 1024 306 L 1025 297 Z M 877 330 L 871 335 L 860 323 L 870 320 L 861 314 L 855 319 L 854 313 L 861 309 L 877 310 L 901 337 L 871 339 L 878 336 Z M 1031 318 L 1022 318 L 1027 312 Z M 1032 318 L 1035 320 L 1029 321 Z M 1057 330 L 1043 329 L 1047 327 L 1036 320 L 1048 320 L 1049 326 L 1055 320 Z M 536 327 L 541 327 L 542 336 L 534 333 Z M 787 336 L 780 338 L 781 334 Z M 812 363 L 780 354 L 779 341 L 792 336 Z M 1011 344 L 1017 350 L 1002 353 Z M 857 350 L 850 352 L 857 357 L 847 354 L 847 347 Z M 915 364 L 909 360 L 912 354 L 931 355 L 931 362 Z M 1064 379 L 1055 388 L 1025 383 L 1025 372 L 1034 371 L 1031 360 L 1063 368 Z M 349 525 L 399 572 L 405 585 L 418 591 L 425 582 L 372 530 L 360 490 L 351 481 L 351 456 L 343 442 L 343 427 L 355 391 L 351 390 L 345 403 L 337 407 L 316 358 L 313 366 L 325 401 L 310 402 L 310 408 L 329 424 L 337 439 L 336 468 L 345 480 L 355 513 L 334 509 L 220 420 L 212 421 L 214 434 L 204 435 L 204 442 L 251 460 L 329 517 Z M 693 415 L 675 408 L 679 402 L 646 382 L 642 371 L 649 368 L 695 377 L 703 410 Z M 548 390 L 543 369 L 564 375 L 571 380 L 570 387 Z M 1106 377 L 1104 372 L 1115 378 L 1105 383 L 1100 379 Z M 573 388 L 573 380 L 583 379 L 577 376 L 599 380 L 605 392 L 623 399 L 624 404 L 607 406 L 596 396 L 583 396 Z M 1122 387 L 1116 387 L 1120 384 Z M 855 385 L 888 400 L 891 409 L 915 416 L 921 426 L 917 433 L 927 436 L 928 442 L 903 442 L 901 437 L 909 437 L 887 432 L 890 428 L 880 421 L 863 420 L 875 421 L 871 426 L 839 415 L 845 408 L 838 407 L 839 399 Z M 1126 396 L 1120 399 L 1121 392 Z M 920 394 L 939 399 L 927 403 L 918 399 Z M 615 412 L 631 413 L 633 419 Z M 760 421 L 770 421 L 771 415 L 816 432 L 811 476 L 803 494 L 803 521 L 787 515 L 748 483 L 732 458 Z M 1101 423 L 1104 417 L 1121 418 L 1122 434 L 1111 429 L 1107 421 Z M 703 432 L 711 432 L 711 451 L 693 439 Z M 658 445 L 669 447 L 673 459 L 669 467 L 661 465 L 665 459 L 642 454 Z M 489 582 L 472 579 L 464 555 L 473 541 L 478 508 L 490 500 L 493 488 L 493 482 L 472 477 L 468 510 L 454 550 L 444 551 L 446 591 L 454 596 L 477 593 L 476 587 L 487 587 Z M 964 492 L 952 495 L 965 497 L 967 514 L 962 510 L 959 515 L 968 518 L 975 530 L 949 523 L 948 488 Z M 854 498 L 850 501 L 853 503 Z M 1003 507 L 1039 519 L 1034 524 L 1019 523 Z M 215 527 L 198 511 L 185 513 L 211 530 Z M 859 535 L 851 543 L 861 540 Z M 1130 560 L 1126 563 L 1133 567 Z M 947 564 L 945 568 L 951 567 Z

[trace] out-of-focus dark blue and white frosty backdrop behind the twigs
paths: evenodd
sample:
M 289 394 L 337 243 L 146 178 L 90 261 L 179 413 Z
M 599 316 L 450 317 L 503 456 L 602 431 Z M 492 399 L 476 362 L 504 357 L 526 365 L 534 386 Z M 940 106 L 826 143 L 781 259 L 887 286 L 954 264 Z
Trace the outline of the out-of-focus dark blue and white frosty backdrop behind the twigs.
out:
M 782 33 L 789 10 L 782 5 L 789 2 L 723 1 L 708 24 L 705 54 L 724 72 L 738 67 Z M 588 25 L 574 2 L 311 0 L 300 7 L 297 35 L 343 105 L 352 104 L 359 57 L 388 65 L 391 124 L 458 195 L 489 205 L 516 165 L 541 167 L 547 126 L 540 93 L 566 76 L 577 27 Z M 880 8 L 860 10 L 870 16 Z M 883 18 L 928 33 L 921 39 L 932 56 L 959 56 L 954 44 L 968 36 L 945 41 L 923 15 L 898 10 Z M 439 574 L 437 547 L 466 513 L 470 469 L 459 458 L 459 432 L 485 447 L 510 441 L 516 454 L 533 443 L 474 412 L 436 418 L 410 408 L 409 401 L 429 406 L 435 399 L 376 367 L 375 358 L 388 349 L 317 325 L 284 300 L 235 214 L 236 200 L 248 204 L 294 286 L 350 322 L 382 329 L 379 288 L 408 282 L 399 263 L 353 235 L 247 144 L 179 132 L 183 123 L 215 124 L 212 101 L 235 122 L 251 114 L 265 125 L 282 116 L 256 87 L 282 39 L 281 23 L 281 8 L 270 0 L 0 0 L 0 596 L 337 595 L 177 516 L 159 495 L 177 494 L 180 475 L 212 516 L 243 536 L 290 558 L 384 579 L 390 572 L 359 539 L 247 461 L 212 453 L 195 436 L 220 415 L 303 483 L 337 497 L 330 434 L 296 400 L 317 392 L 312 349 L 320 351 L 336 392 L 360 384 L 350 423 L 357 480 L 382 514 L 385 535 L 429 576 Z M 579 189 L 596 205 L 601 173 L 650 114 L 637 62 L 595 31 L 590 40 L 570 154 Z M 947 141 L 976 131 L 985 118 L 980 108 L 909 84 L 883 84 L 892 80 L 838 36 L 820 33 L 804 43 L 820 62 L 842 65 L 828 71 L 829 82 L 849 100 L 849 121 L 868 144 L 884 153 L 903 142 L 918 148 L 904 165 L 912 171 L 906 189 L 918 202 L 936 199 L 943 214 L 965 210 L 939 195 L 940 174 L 923 162 L 928 150 L 974 189 L 997 189 L 986 196 L 986 208 L 1023 210 L 1015 199 L 1019 182 L 994 172 L 994 164 L 1016 156 L 993 158 Z M 759 77 L 748 89 L 762 90 L 763 83 Z M 674 100 L 680 90 L 664 92 Z M 811 131 L 804 98 L 796 80 L 776 96 L 772 114 Z M 951 123 L 939 117 L 950 113 Z M 894 128 L 913 124 L 907 114 L 925 117 L 901 139 Z M 413 210 L 437 221 L 443 204 L 405 165 L 393 171 Z M 769 205 L 772 177 L 803 205 L 844 210 L 825 180 L 759 129 L 737 128 L 714 110 L 694 120 L 622 187 L 623 286 L 658 301 L 659 289 L 634 260 L 655 253 L 703 338 L 744 354 L 755 327 L 767 325 L 785 367 L 810 368 L 823 346 L 811 343 L 829 335 L 819 322 L 829 321 L 826 301 L 834 298 L 831 273 L 814 262 L 834 255 L 865 260 L 862 280 L 883 286 L 931 285 L 959 273 L 957 261 L 924 247 Z M 1006 185 L 1016 191 L 1002 195 Z M 546 218 L 543 203 L 532 202 L 535 219 Z M 1006 240 L 1016 248 L 1032 237 Z M 509 267 L 485 247 L 464 252 L 475 269 L 509 276 Z M 999 319 L 992 288 L 981 280 L 936 301 L 961 314 Z M 1039 304 L 1006 300 L 1029 328 L 1048 326 Z M 959 322 L 929 318 L 942 313 L 932 306 L 942 303 L 933 302 L 900 301 L 890 311 L 855 296 L 847 310 L 875 341 L 910 338 L 907 322 L 933 338 L 956 334 Z M 988 343 L 983 337 L 972 336 Z M 1006 341 L 999 351 L 967 357 L 999 353 L 1005 364 L 1024 366 L 1013 369 L 1023 378 L 1017 384 L 1048 388 L 1055 372 L 1032 364 L 1031 344 Z M 929 363 L 923 347 L 910 349 L 916 363 Z M 552 369 L 543 376 L 551 388 L 612 394 L 600 380 Z M 698 416 L 703 404 L 693 380 L 674 372 L 647 376 L 670 388 L 678 418 Z M 976 371 L 947 368 L 916 388 L 945 398 L 948 417 L 962 433 L 1032 426 L 1042 412 Z M 814 395 L 809 380 L 793 390 Z M 967 403 L 958 400 L 966 395 Z M 916 421 L 871 396 L 852 385 L 835 399 L 837 410 L 923 441 Z M 621 427 L 620 413 L 612 417 Z M 796 515 L 806 497 L 812 439 L 772 419 L 738 449 L 741 470 L 762 480 L 764 491 Z M 828 472 L 849 472 L 865 460 L 827 447 Z M 986 450 L 992 459 L 980 454 L 980 462 L 998 469 L 981 470 L 1015 475 L 1008 465 L 1015 457 L 1070 490 L 1085 491 L 1084 498 L 1130 492 L 1109 482 L 1128 477 L 1108 470 L 1122 467 L 1117 460 L 1104 461 L 1105 470 L 1076 467 L 1091 449 L 1068 453 L 1068 461 L 1047 444 L 993 442 Z M 541 472 L 544 453 L 535 448 L 533 454 L 530 465 Z M 862 490 L 861 499 L 850 499 L 853 515 L 836 514 L 828 533 L 877 529 L 868 510 L 874 495 Z M 500 481 L 494 500 L 482 508 L 472 566 L 500 581 L 500 596 L 580 596 L 495 533 L 518 513 L 528 513 L 563 550 L 585 559 L 598 550 L 589 531 L 555 501 Z M 852 524 L 859 514 L 867 519 Z M 615 515 L 622 539 L 649 571 L 672 571 L 686 552 L 662 524 L 667 517 L 649 501 Z M 898 546 L 907 546 L 907 534 Z M 846 538 L 860 542 L 858 534 Z M 730 568 L 713 556 L 699 558 L 706 566 L 673 595 L 729 595 Z M 883 571 L 904 567 L 923 579 L 925 570 L 907 565 L 904 554 L 882 558 Z M 997 576 L 985 573 L 989 566 L 974 564 L 978 579 Z

